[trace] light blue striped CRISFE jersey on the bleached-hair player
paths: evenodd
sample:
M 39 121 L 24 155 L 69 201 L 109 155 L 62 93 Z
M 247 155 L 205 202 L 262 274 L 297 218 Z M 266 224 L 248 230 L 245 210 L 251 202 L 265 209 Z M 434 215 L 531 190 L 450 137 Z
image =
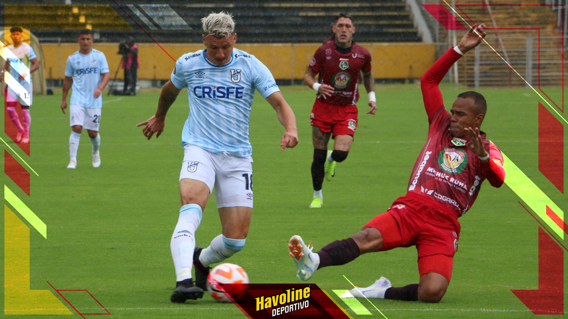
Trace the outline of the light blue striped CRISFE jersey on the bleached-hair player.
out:
M 223 66 L 205 57 L 206 49 L 183 54 L 172 72 L 172 83 L 187 87 L 190 112 L 182 132 L 182 145 L 199 146 L 213 153 L 250 156 L 250 109 L 256 88 L 263 98 L 280 91 L 274 77 L 256 57 L 233 49 Z

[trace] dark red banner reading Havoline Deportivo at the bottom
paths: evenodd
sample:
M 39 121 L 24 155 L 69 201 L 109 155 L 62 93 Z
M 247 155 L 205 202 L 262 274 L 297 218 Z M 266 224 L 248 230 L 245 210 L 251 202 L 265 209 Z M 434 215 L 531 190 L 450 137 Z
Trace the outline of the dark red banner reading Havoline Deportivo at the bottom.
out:
M 237 307 L 250 319 L 348 319 L 316 284 L 249 284 Z

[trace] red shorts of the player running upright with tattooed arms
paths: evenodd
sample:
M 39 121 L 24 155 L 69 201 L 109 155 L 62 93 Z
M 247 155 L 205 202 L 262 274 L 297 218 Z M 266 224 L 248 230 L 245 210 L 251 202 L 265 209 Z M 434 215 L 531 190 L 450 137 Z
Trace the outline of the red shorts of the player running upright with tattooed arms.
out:
M 357 106 L 339 106 L 321 102 L 316 99 L 310 124 L 319 127 L 321 132 L 332 132 L 337 135 L 354 135 L 357 129 Z

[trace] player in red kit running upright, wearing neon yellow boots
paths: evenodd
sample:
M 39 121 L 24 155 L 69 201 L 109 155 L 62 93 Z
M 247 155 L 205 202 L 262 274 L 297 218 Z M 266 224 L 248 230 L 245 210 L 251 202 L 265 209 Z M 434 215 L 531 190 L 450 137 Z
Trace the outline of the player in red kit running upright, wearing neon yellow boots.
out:
M 354 43 L 353 18 L 339 14 L 332 27 L 335 41 L 327 39 L 318 48 L 304 83 L 318 91 L 311 114 L 312 141 L 314 142 L 314 161 L 312 162 L 312 183 L 314 198 L 310 208 L 323 205 L 321 184 L 323 179 L 331 181 L 335 175 L 335 164 L 347 158 L 357 129 L 357 100 L 359 90 L 357 78 L 363 73 L 365 89 L 369 94 L 367 114 L 375 114 L 375 79 L 371 73 L 371 55 L 367 49 Z M 319 73 L 318 81 L 314 79 Z M 327 150 L 329 137 L 332 137 L 333 151 Z

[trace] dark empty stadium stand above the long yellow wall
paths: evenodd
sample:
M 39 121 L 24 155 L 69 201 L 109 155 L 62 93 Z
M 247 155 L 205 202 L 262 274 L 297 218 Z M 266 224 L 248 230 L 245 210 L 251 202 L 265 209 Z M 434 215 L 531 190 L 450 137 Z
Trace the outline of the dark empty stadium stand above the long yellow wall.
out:
M 136 5 L 140 11 L 144 11 L 142 8 L 145 7 L 146 10 L 143 12 L 145 18 L 154 18 L 152 24 L 157 30 L 151 30 L 152 26 L 139 19 L 129 6 L 121 5 L 121 7 L 128 15 L 135 18 L 137 23 L 152 31 L 152 35 L 156 35 L 159 41 L 170 43 L 200 42 L 200 19 L 210 12 L 222 10 L 231 12 L 235 16 L 241 43 L 321 42 L 329 37 L 331 33 L 329 24 L 339 12 L 349 12 L 353 15 L 357 27 L 355 37 L 357 41 L 421 41 L 406 2 L 403 0 L 362 0 L 355 3 L 317 0 L 310 2 L 221 0 L 212 3 L 169 1 L 168 3 L 175 14 L 181 16 L 192 30 L 167 30 L 167 27 L 156 23 L 156 20 L 168 20 L 171 12 L 160 11 L 159 7 L 150 12 L 149 7 L 152 5 Z M 73 5 L 24 6 L 16 10 L 17 14 L 6 14 L 5 22 L 13 24 L 26 20 L 28 23 L 25 27 L 44 39 L 60 37 L 62 41 L 74 41 L 74 35 L 70 35 L 65 30 L 91 28 L 99 30 L 101 41 L 123 40 L 126 30 L 132 30 L 128 35 L 135 36 L 139 41 L 151 41 L 143 31 L 134 30 L 121 18 L 120 15 L 130 20 L 122 9 L 116 6 L 114 9 L 106 5 L 76 1 Z M 6 12 L 12 11 L 14 10 L 6 9 Z M 34 19 L 29 19 L 30 16 Z

